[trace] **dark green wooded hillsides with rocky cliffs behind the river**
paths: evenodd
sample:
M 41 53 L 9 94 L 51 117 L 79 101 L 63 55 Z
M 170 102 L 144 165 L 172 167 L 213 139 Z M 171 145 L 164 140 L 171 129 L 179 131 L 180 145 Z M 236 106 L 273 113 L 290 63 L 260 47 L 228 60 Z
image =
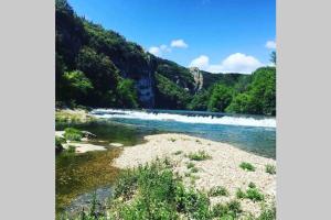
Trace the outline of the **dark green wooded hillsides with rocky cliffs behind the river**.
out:
M 66 0 L 55 3 L 57 107 L 181 109 L 276 116 L 275 66 L 252 75 L 199 70 L 157 57 L 120 34 L 78 16 Z

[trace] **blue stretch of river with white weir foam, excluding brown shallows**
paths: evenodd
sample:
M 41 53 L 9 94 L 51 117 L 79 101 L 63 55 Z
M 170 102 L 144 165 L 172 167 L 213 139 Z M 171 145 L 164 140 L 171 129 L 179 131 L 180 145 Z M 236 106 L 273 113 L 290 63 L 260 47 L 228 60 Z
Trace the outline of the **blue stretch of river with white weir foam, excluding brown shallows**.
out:
M 90 113 L 141 131 L 185 133 L 276 158 L 276 119 L 270 117 L 178 110 L 95 109 Z

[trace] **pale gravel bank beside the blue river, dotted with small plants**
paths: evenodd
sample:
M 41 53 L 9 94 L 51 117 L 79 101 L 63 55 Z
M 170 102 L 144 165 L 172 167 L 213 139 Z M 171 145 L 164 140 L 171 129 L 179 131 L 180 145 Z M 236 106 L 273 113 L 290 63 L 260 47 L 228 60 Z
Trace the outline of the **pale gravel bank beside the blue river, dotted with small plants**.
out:
M 157 134 L 145 139 L 146 143 L 125 147 L 113 165 L 125 169 L 150 163 L 157 157 L 167 157 L 174 164 L 174 172 L 183 177 L 186 186 L 203 191 L 222 186 L 228 191 L 226 197 L 212 197 L 212 205 L 238 199 L 239 189 L 245 191 L 254 185 L 264 195 L 263 201 L 242 195 L 241 204 L 245 212 L 255 217 L 260 213 L 263 204 L 270 205 L 276 199 L 276 174 L 266 172 L 266 166 L 276 166 L 275 160 L 225 143 L 184 134 Z M 244 169 L 243 163 L 250 164 L 254 170 Z

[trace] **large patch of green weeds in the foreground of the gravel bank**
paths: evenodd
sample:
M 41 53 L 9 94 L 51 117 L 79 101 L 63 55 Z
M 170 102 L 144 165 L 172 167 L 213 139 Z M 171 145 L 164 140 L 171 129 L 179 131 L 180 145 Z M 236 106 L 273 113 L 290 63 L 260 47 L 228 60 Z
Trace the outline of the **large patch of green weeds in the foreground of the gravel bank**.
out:
M 206 194 L 195 188 L 185 187 L 182 178 L 173 173 L 172 166 L 168 163 L 154 161 L 122 170 L 115 184 L 111 202 L 105 216 L 98 216 L 99 213 L 95 211 L 95 208 L 90 208 L 89 211 L 82 211 L 79 216 L 73 219 L 235 220 L 244 215 L 238 200 L 231 200 L 212 207 L 209 196 L 227 195 L 227 190 L 224 187 L 215 187 Z M 199 177 L 191 176 L 191 178 Z M 96 202 L 93 201 L 93 204 Z M 264 210 L 259 219 L 256 220 L 274 220 L 273 210 Z

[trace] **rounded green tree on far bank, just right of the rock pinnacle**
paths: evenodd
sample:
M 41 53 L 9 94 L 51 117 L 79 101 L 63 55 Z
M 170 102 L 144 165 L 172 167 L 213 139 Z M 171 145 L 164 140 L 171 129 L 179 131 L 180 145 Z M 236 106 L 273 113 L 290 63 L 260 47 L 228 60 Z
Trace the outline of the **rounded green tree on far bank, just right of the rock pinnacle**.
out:
M 233 97 L 233 90 L 222 84 L 214 86 L 211 98 L 209 100 L 207 109 L 210 111 L 223 112 L 225 108 L 231 103 Z

